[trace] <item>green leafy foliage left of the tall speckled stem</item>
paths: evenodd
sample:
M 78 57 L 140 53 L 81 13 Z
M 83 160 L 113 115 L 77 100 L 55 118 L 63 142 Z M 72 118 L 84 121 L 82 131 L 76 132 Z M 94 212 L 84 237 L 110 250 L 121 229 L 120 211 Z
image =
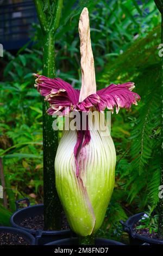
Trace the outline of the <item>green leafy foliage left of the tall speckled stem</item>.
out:
M 16 198 L 31 195 L 35 202 L 39 192 L 37 200 L 42 199 L 42 106 L 32 76 L 35 65 L 41 69 L 41 56 L 37 47 L 20 50 L 16 56 L 4 53 L 7 65 L 0 84 L 0 155 L 10 211 L 15 211 Z

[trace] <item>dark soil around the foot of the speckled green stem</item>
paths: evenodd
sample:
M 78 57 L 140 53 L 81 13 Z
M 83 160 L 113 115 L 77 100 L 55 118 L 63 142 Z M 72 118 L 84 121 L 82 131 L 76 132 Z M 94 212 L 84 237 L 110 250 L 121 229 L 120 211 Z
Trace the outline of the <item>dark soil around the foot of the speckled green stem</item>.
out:
M 23 218 L 21 220 L 21 222 L 19 223 L 19 225 L 23 228 L 43 230 L 43 225 L 44 225 L 43 223 L 44 223 L 43 222 L 43 214 L 40 214 L 40 215 L 37 214 L 32 217 Z M 70 229 L 70 227 L 68 226 L 66 216 L 63 214 L 61 230 L 66 230 L 66 229 Z

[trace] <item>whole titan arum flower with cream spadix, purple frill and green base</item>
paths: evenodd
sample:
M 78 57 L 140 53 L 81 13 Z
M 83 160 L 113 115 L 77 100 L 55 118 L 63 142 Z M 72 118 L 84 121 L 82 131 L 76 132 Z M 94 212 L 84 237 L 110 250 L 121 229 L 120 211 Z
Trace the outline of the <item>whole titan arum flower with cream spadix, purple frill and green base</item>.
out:
M 137 104 L 140 96 L 134 83 L 111 84 L 96 91 L 94 60 L 90 40 L 89 13 L 84 8 L 79 20 L 82 70 L 81 90 L 60 78 L 36 76 L 37 90 L 49 102 L 48 114 L 71 111 L 118 113 L 119 108 Z M 116 152 L 110 133 L 102 136 L 93 119 L 86 130 L 64 131 L 55 157 L 55 181 L 71 229 L 79 236 L 96 233 L 104 220 L 115 181 Z M 90 127 L 92 125 L 92 127 Z M 94 128 L 93 128 L 94 127 Z

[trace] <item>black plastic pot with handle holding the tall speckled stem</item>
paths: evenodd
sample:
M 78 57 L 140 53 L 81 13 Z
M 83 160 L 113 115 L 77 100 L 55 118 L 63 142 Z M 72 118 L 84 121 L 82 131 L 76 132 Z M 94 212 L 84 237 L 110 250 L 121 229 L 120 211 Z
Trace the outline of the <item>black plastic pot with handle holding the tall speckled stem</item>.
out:
M 20 209 L 19 203 L 21 201 L 27 202 L 27 207 Z M 10 218 L 10 223 L 12 227 L 27 231 L 28 233 L 37 237 L 36 241 L 39 245 L 44 245 L 45 243 L 65 239 L 72 236 L 72 231 L 70 229 L 67 230 L 59 230 L 59 231 L 44 231 L 44 230 L 36 230 L 36 229 L 28 229 L 20 226 L 23 218 L 34 217 L 35 215 L 43 214 L 43 204 L 36 204 L 30 206 L 30 202 L 28 198 L 23 198 L 21 200 L 16 201 L 17 211 Z

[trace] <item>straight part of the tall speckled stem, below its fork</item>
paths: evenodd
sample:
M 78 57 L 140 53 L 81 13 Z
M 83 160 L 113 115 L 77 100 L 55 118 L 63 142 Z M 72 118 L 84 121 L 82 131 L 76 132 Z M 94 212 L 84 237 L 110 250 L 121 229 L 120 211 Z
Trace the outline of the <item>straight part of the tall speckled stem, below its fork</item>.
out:
M 44 76 L 55 77 L 54 33 L 43 39 Z M 61 229 L 61 205 L 55 188 L 54 158 L 58 148 L 58 132 L 52 128 L 53 118 L 47 115 L 48 103 L 43 101 L 43 191 L 45 229 Z

